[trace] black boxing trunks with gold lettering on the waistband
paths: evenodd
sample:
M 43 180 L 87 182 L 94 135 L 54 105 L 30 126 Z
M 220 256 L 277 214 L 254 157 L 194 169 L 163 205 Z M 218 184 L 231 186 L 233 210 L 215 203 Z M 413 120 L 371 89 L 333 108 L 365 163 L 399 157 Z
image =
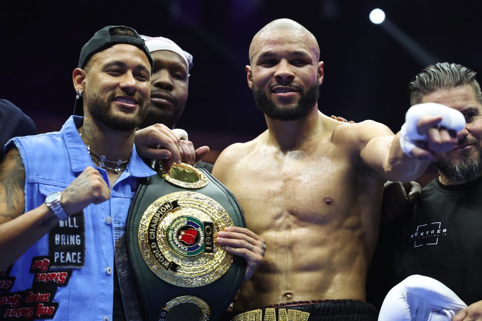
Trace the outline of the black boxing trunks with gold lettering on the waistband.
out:
M 232 316 L 234 313 L 238 314 Z M 223 321 L 376 321 L 377 318 L 377 309 L 368 302 L 338 299 L 265 305 L 241 313 L 226 313 Z

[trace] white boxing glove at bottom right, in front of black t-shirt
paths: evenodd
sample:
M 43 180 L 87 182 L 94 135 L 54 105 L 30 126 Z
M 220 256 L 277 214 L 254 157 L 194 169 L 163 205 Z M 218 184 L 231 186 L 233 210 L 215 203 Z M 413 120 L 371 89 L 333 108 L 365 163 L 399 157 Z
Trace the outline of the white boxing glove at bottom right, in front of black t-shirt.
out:
M 440 281 L 411 275 L 385 297 L 378 321 L 450 321 L 467 305 Z

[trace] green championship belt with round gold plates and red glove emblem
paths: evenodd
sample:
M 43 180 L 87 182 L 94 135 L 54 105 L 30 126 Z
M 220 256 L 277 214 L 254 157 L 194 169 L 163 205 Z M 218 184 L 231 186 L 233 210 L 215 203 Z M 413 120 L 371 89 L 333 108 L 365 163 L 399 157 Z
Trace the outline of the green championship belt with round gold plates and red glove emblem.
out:
M 215 242 L 246 227 L 229 190 L 202 168 L 174 164 L 138 188 L 127 221 L 128 255 L 144 319 L 215 321 L 233 301 L 246 260 Z

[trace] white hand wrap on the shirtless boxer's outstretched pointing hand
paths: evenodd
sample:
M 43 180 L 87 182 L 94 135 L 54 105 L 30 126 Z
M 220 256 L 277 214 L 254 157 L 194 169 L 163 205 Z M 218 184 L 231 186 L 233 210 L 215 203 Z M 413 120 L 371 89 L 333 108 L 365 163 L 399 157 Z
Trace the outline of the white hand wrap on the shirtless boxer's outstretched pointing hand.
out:
M 427 140 L 427 134 L 419 134 L 417 130 L 417 123 L 423 116 L 441 116 L 442 120 L 437 127 L 445 127 L 447 130 L 454 130 L 457 133 L 465 127 L 465 117 L 456 109 L 433 102 L 413 105 L 407 111 L 405 123 L 400 130 L 400 146 L 403 152 L 409 156 L 416 146 L 416 140 Z

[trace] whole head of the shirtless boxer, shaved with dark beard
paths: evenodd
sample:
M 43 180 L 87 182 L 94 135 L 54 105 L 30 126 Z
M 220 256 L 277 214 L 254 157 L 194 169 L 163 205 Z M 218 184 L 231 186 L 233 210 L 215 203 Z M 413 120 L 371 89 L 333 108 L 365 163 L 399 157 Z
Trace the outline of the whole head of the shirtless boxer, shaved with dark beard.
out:
M 315 36 L 289 19 L 272 21 L 250 46 L 248 86 L 258 108 L 272 119 L 290 121 L 317 108 L 323 62 Z

